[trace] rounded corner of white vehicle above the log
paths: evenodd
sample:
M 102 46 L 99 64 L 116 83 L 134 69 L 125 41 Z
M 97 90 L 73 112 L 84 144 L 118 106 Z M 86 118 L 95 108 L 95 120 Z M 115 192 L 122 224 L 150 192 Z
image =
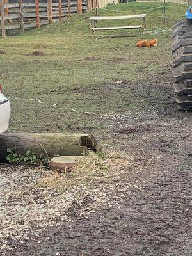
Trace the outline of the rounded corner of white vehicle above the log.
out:
M 10 111 L 10 102 L 3 95 L 2 86 L 0 85 L 0 134 L 5 132 L 9 127 Z

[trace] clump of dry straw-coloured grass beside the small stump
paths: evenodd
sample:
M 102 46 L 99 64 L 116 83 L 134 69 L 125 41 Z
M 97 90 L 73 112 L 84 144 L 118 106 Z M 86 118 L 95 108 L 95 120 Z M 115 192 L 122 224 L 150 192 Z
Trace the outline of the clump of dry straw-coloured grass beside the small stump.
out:
M 40 188 L 61 188 L 73 186 L 77 181 L 106 180 L 120 175 L 120 169 L 129 165 L 128 158 L 116 152 L 90 152 L 77 161 L 71 173 L 49 172 L 47 177 L 38 180 Z M 47 172 L 46 172 L 47 175 Z

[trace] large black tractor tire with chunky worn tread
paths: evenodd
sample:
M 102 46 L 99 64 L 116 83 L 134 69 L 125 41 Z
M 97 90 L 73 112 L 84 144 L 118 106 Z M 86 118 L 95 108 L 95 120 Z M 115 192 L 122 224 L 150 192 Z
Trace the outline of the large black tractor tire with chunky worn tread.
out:
M 180 110 L 192 110 L 192 20 L 172 28 L 172 72 L 175 99 Z

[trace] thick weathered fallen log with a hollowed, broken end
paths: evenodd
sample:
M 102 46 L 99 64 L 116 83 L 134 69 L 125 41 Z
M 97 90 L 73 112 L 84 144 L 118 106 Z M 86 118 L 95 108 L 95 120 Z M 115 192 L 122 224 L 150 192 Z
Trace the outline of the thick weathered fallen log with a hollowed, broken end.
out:
M 37 157 L 79 156 L 88 150 L 97 151 L 97 141 L 91 134 L 64 133 L 4 133 L 0 135 L 0 162 L 7 156 L 7 148 L 15 148 L 17 154 L 27 150 Z

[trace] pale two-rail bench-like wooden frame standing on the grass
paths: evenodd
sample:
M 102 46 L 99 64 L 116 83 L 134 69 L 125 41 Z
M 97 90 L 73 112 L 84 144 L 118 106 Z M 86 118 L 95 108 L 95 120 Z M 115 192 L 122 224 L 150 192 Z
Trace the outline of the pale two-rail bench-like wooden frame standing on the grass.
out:
M 114 26 L 114 27 L 100 27 L 96 28 L 95 24 L 99 20 L 122 20 L 122 19 L 137 19 L 142 18 L 143 24 L 141 25 L 132 25 L 132 26 Z M 95 35 L 95 31 L 102 31 L 102 30 L 115 30 L 115 29 L 141 29 L 143 33 L 146 31 L 146 14 L 138 14 L 138 15 L 124 15 L 124 16 L 92 16 L 90 17 L 90 28 L 92 31 L 92 35 L 95 36 L 95 38 L 98 38 Z M 124 36 L 124 35 L 120 35 Z M 112 37 L 112 36 L 109 36 Z M 100 37 L 103 38 L 103 37 Z

